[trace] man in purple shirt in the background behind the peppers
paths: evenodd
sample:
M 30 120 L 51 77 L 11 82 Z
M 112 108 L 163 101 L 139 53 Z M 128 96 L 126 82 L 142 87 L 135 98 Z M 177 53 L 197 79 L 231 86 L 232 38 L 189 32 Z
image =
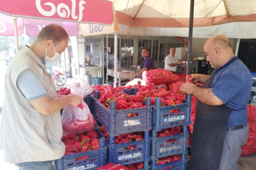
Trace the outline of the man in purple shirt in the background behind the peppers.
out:
M 139 79 L 142 79 L 142 73 L 144 71 L 154 69 L 154 61 L 149 56 L 149 49 L 147 48 L 142 49 L 142 57 L 144 58 L 144 60 L 142 61 L 140 71 L 137 72 L 137 74 L 135 75 L 135 78 L 139 78 Z

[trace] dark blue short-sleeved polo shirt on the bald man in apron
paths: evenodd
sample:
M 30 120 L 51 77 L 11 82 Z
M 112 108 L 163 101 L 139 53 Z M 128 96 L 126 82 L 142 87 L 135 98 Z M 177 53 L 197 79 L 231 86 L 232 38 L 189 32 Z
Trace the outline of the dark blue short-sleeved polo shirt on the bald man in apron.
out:
M 226 106 L 240 109 L 232 111 L 228 119 L 228 128 L 247 123 L 247 104 L 252 87 L 250 71 L 241 60 L 231 63 L 233 58 L 222 66 L 223 69 L 218 72 L 211 83 L 211 91 Z M 212 75 L 217 71 L 218 69 Z

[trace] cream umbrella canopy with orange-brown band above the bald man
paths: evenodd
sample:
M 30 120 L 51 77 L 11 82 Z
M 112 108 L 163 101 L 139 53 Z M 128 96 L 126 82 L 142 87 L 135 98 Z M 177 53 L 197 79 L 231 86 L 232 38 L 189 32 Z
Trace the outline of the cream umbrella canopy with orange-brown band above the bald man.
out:
M 119 24 L 189 27 L 190 0 L 111 0 Z M 194 27 L 256 21 L 256 0 L 195 0 Z

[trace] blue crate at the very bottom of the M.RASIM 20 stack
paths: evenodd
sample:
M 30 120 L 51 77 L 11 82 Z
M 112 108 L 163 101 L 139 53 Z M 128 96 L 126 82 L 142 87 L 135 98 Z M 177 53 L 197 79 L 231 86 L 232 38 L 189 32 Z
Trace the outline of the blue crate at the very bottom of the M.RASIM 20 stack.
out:
M 156 165 L 156 161 L 150 161 L 150 170 L 185 170 L 186 169 L 186 155 L 181 154 L 181 161 L 166 163 L 164 165 Z

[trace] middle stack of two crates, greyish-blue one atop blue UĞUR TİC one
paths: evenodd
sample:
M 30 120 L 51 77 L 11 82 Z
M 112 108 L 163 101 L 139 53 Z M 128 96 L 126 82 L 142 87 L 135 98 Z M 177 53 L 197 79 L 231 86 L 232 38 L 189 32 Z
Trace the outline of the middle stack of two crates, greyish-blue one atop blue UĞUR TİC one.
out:
M 116 101 L 110 101 L 110 109 L 107 109 L 97 100 L 99 98 L 100 92 L 94 91 L 95 118 L 99 124 L 106 128 L 109 135 L 106 142 L 107 163 L 129 165 L 143 162 L 142 170 L 148 170 L 150 161 L 149 130 L 152 128 L 151 99 L 148 98 L 145 102 L 147 107 L 116 110 Z M 137 116 L 129 117 L 128 114 L 136 114 Z M 124 134 L 135 132 L 140 132 L 144 139 L 121 144 L 115 143 L 117 136 L 122 137 Z

